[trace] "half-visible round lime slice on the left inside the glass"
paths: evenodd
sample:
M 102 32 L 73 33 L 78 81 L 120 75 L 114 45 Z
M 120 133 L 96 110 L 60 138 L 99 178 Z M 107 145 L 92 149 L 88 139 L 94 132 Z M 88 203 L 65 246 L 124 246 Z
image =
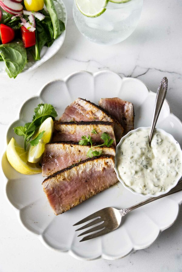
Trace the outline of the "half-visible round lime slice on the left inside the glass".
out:
M 109 0 L 76 0 L 79 11 L 87 17 L 98 17 L 105 12 Z

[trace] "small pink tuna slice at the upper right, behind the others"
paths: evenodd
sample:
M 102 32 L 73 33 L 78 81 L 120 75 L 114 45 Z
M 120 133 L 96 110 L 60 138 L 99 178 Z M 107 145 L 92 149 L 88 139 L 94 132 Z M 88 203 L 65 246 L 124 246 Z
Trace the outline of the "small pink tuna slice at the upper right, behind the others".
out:
M 134 107 L 131 102 L 118 97 L 101 98 L 99 106 L 106 110 L 123 127 L 123 136 L 134 129 Z

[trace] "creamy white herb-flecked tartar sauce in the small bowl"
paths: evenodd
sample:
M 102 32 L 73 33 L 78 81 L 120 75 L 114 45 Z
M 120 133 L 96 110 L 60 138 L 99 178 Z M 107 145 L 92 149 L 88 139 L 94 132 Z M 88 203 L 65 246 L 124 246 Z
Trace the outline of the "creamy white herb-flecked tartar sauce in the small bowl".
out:
M 117 170 L 135 192 L 155 195 L 166 191 L 182 175 L 182 151 L 168 135 L 150 129 L 133 132 L 123 140 L 117 154 Z

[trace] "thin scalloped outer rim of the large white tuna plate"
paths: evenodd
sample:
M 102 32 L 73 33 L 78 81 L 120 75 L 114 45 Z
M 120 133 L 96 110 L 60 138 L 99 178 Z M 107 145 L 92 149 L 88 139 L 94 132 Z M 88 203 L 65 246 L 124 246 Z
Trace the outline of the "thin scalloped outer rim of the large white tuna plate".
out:
M 7 129 L 6 129 L 6 133 L 5 133 L 5 135 L 6 135 L 6 137 L 5 137 L 5 148 L 4 148 L 4 151 L 2 152 L 2 156 L 1 156 L 1 167 L 0 167 L 0 170 L 1 170 L 2 175 L 3 175 L 3 177 L 4 177 L 4 180 L 5 180 L 5 182 L 4 182 L 4 194 L 5 194 L 6 199 L 8 200 L 8 202 L 9 202 L 9 203 L 12 205 L 12 207 L 15 209 L 15 212 L 16 212 L 17 217 L 18 217 L 18 221 L 19 221 L 19 223 L 21 224 L 21 226 L 22 226 L 25 230 L 28 230 L 30 233 L 33 233 L 34 235 L 36 235 L 36 236 L 39 238 L 39 240 L 45 245 L 45 247 L 47 247 L 47 248 L 49 248 L 49 249 L 51 249 L 51 250 L 59 251 L 59 252 L 61 252 L 61 253 L 68 253 L 68 254 L 71 255 L 72 257 L 75 257 L 76 259 L 79 259 L 79 260 L 96 260 L 96 259 L 99 259 L 99 258 L 103 258 L 103 259 L 107 259 L 107 260 L 117 260 L 117 259 L 126 257 L 128 254 L 132 253 L 133 251 L 136 251 L 136 250 L 139 250 L 139 249 L 144 249 L 144 248 L 149 247 L 150 245 L 152 245 L 152 244 L 157 240 L 157 238 L 159 237 L 160 233 L 162 233 L 163 230 L 165 230 L 165 229 L 167 229 L 168 227 L 172 226 L 172 225 L 175 223 L 175 221 L 177 220 L 177 216 L 178 216 L 178 214 L 179 214 L 180 205 L 181 205 L 181 203 L 182 203 L 182 195 L 181 195 L 180 200 L 177 201 L 177 204 L 178 204 L 178 212 L 177 212 L 177 216 L 175 217 L 175 219 L 170 223 L 170 225 L 168 225 L 168 226 L 166 226 L 166 227 L 164 227 L 164 228 L 159 228 L 158 235 L 155 237 L 154 240 L 150 241 L 147 245 L 142 246 L 141 248 L 132 247 L 132 249 L 130 250 L 130 252 L 127 252 L 125 255 L 122 255 L 122 256 L 109 256 L 109 255 L 106 255 L 106 254 L 101 253 L 101 254 L 98 255 L 97 257 L 94 257 L 94 258 L 91 257 L 91 258 L 89 258 L 89 257 L 83 257 L 83 256 L 81 256 L 81 254 L 76 253 L 76 252 L 73 251 L 72 249 L 68 249 L 68 250 L 59 250 L 59 249 L 56 249 L 56 248 L 51 247 L 51 246 L 50 246 L 48 243 L 46 243 L 46 241 L 43 239 L 42 234 L 35 233 L 35 232 L 33 232 L 32 230 L 30 230 L 27 226 L 24 225 L 24 223 L 22 222 L 22 220 L 21 220 L 21 218 L 20 218 L 20 211 L 21 211 L 21 209 L 18 209 L 17 207 L 15 207 L 15 206 L 13 205 L 13 203 L 8 199 L 7 192 L 6 192 L 6 189 L 7 189 L 6 185 L 7 185 L 7 183 L 8 183 L 8 178 L 5 176 L 5 174 L 4 174 L 4 172 L 3 172 L 3 169 L 2 169 L 2 160 L 3 160 L 3 156 L 5 155 L 6 147 L 7 147 L 7 132 L 8 132 L 9 128 L 12 126 L 12 124 L 13 124 L 14 122 L 19 121 L 19 119 L 20 119 L 20 113 L 21 113 L 22 107 L 24 106 L 25 103 L 27 103 L 27 102 L 28 102 L 29 100 L 31 100 L 32 98 L 38 98 L 38 97 L 41 95 L 42 90 L 43 90 L 47 85 L 49 85 L 49 84 L 51 84 L 51 83 L 53 83 L 53 82 L 55 82 L 55 81 L 63 81 L 63 82 L 66 82 L 66 81 L 67 81 L 68 79 L 70 79 L 71 77 L 73 77 L 73 76 L 75 76 L 75 75 L 77 75 L 77 74 L 80 74 L 80 73 L 89 73 L 89 74 L 90 74 L 91 76 L 93 76 L 93 77 L 95 77 L 95 76 L 97 76 L 97 75 L 99 75 L 99 74 L 103 74 L 103 73 L 110 73 L 110 74 L 113 74 L 113 75 L 115 75 L 115 76 L 117 75 L 117 76 L 120 77 L 122 80 L 123 80 L 123 79 L 124 79 L 124 80 L 128 80 L 128 79 L 129 79 L 129 80 L 140 81 L 141 83 L 143 83 L 141 80 L 138 80 L 138 79 L 121 77 L 120 75 L 118 75 L 118 74 L 116 74 L 116 73 L 114 73 L 114 72 L 112 72 L 112 71 L 110 71 L 110 70 L 103 70 L 103 71 L 99 71 L 99 72 L 96 72 L 96 73 L 91 73 L 91 72 L 88 72 L 88 71 L 78 71 L 78 72 L 74 72 L 74 73 L 69 74 L 68 76 L 64 77 L 63 79 L 51 80 L 51 81 L 49 81 L 48 83 L 45 83 L 44 86 L 39 90 L 39 92 L 38 92 L 36 95 L 30 97 L 30 98 L 27 99 L 27 100 L 24 100 L 24 102 L 23 102 L 23 103 L 21 104 L 21 106 L 19 107 L 19 111 L 18 111 L 18 113 L 17 113 L 17 115 L 16 115 L 14 121 L 13 121 L 11 124 L 9 124 L 8 127 L 7 127 Z M 146 85 L 145 83 L 143 83 L 143 84 L 147 87 L 147 85 Z M 148 93 L 149 93 L 149 94 L 156 95 L 156 94 L 153 93 L 151 90 L 149 90 L 148 87 L 147 87 L 147 90 L 148 90 Z M 180 121 L 180 120 L 172 113 L 172 110 L 171 110 L 170 105 L 169 105 L 169 103 L 168 103 L 167 100 L 166 100 L 166 102 L 167 102 L 168 107 L 169 107 L 169 112 L 170 112 L 169 115 L 171 115 L 171 116 L 173 116 L 175 119 L 177 119 L 177 121 L 179 121 L 179 122 L 181 123 L 181 125 L 182 125 L 182 122 L 181 122 L 181 121 Z

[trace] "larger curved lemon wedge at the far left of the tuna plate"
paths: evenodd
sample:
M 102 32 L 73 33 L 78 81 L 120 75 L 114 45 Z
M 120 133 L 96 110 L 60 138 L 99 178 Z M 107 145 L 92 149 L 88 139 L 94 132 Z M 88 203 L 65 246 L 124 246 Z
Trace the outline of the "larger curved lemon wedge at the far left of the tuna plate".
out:
M 21 174 L 34 175 L 42 172 L 39 165 L 27 161 L 27 151 L 17 144 L 15 138 L 9 142 L 6 156 L 11 166 Z

